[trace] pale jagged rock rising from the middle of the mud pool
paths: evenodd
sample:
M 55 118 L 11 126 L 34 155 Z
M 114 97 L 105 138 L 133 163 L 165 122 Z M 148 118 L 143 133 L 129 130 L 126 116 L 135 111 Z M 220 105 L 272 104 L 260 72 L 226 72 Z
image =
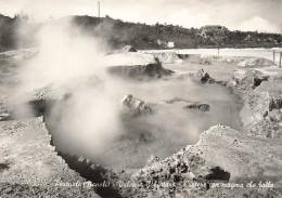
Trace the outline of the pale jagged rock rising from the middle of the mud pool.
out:
M 144 103 L 144 101 L 133 97 L 132 94 L 124 96 L 121 103 L 125 110 L 124 116 L 129 118 L 142 115 L 151 115 L 153 113 L 149 104 Z

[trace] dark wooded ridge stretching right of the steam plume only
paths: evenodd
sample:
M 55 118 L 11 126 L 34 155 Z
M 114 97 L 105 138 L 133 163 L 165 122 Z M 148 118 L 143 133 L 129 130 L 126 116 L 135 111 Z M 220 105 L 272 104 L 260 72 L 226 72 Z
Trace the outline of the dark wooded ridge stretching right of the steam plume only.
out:
M 166 42 L 175 48 L 272 48 L 282 44 L 279 34 L 257 31 L 231 31 L 222 26 L 206 26 L 200 29 L 172 25 L 145 25 L 127 23 L 111 17 L 75 16 L 74 22 L 81 28 L 102 35 L 115 48 L 126 44 L 137 49 L 164 49 Z M 157 41 L 162 41 L 159 45 Z M 166 42 L 165 42 L 166 41 Z

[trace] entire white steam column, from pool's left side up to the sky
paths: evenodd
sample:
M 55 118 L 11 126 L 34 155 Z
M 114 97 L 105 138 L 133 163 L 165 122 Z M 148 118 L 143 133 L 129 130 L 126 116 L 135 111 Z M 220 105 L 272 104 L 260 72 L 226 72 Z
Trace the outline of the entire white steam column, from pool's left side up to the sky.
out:
M 111 90 L 105 84 L 98 88 L 88 80 L 97 76 L 107 78 L 104 72 L 106 43 L 87 36 L 72 18 L 46 25 L 37 39 L 39 54 L 20 71 L 23 83 L 16 92 L 18 98 L 25 101 L 26 91 L 50 83 L 66 84 L 74 91 L 72 97 L 55 105 L 48 118 L 49 127 L 57 131 L 53 136 L 60 142 L 59 149 L 74 154 L 101 153 L 121 129 L 119 106 L 111 96 Z M 16 103 L 23 104 L 17 106 L 16 115 L 29 117 L 33 113 L 29 106 L 21 101 Z

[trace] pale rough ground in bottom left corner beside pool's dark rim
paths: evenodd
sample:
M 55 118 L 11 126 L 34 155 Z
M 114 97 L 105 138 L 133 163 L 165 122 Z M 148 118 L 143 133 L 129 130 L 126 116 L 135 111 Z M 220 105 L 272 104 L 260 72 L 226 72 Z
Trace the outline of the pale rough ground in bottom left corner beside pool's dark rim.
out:
M 84 183 L 87 180 L 72 170 L 62 157 L 57 156 L 55 147 L 50 145 L 50 140 L 51 136 L 48 134 L 42 118 L 0 122 L 1 197 L 98 196 L 93 188 L 82 189 L 55 185 Z M 18 150 L 16 159 L 13 150 Z M 5 168 L 2 166 L 3 162 L 9 168 L 3 170 Z

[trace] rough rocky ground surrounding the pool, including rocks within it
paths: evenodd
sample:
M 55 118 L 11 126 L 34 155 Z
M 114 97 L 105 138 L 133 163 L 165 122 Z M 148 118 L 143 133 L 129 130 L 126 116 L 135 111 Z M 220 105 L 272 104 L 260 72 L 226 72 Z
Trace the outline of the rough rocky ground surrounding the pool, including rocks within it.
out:
M 164 55 L 157 56 L 161 58 L 150 56 L 145 65 L 110 69 L 138 80 L 143 75 L 146 79 L 171 75 L 159 63 Z M 189 56 L 184 58 L 189 61 Z M 208 62 L 211 66 L 216 64 L 215 60 Z M 44 102 L 67 98 L 73 91 L 68 83 L 49 84 L 27 93 L 27 103 L 37 102 L 36 117 L 14 117 L 12 98 L 1 95 L 0 197 L 282 197 L 282 70 L 261 68 L 261 63 L 252 62 L 252 68 L 239 66 L 225 82 L 203 69 L 180 77 L 196 83 L 219 83 L 238 95 L 244 104 L 240 114 L 244 129 L 210 127 L 195 145 L 188 145 L 163 160 L 152 156 L 140 169 L 105 168 L 52 146 L 43 121 Z M 93 84 L 101 82 L 95 77 L 87 80 Z M 166 103 L 179 101 L 188 103 L 187 108 L 209 108 L 208 104 L 183 98 Z M 150 104 L 132 95 L 125 96 L 123 104 L 125 114 L 153 114 Z

